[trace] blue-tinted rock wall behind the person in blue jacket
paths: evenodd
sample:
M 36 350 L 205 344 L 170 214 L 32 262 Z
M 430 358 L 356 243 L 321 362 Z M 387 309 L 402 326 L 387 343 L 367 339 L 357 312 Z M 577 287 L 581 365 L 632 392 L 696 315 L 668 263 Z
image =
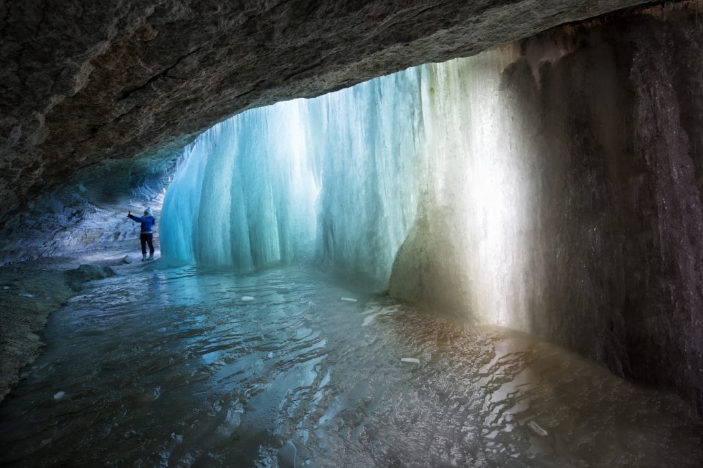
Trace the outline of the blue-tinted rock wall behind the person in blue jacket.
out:
M 134 250 L 139 225 L 127 212 L 141 215 L 148 206 L 160 220 L 180 155 L 166 161 L 108 160 L 80 169 L 6 220 L 0 228 L 0 265 L 102 248 Z M 154 237 L 158 246 L 158 229 Z

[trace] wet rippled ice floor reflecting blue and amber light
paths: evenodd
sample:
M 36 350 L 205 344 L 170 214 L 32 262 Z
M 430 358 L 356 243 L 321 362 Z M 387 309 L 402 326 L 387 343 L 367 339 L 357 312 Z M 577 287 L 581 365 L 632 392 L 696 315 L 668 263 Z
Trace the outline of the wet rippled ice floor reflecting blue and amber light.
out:
M 0 405 L 0 464 L 703 465 L 673 394 L 306 267 L 129 265 L 41 339 Z

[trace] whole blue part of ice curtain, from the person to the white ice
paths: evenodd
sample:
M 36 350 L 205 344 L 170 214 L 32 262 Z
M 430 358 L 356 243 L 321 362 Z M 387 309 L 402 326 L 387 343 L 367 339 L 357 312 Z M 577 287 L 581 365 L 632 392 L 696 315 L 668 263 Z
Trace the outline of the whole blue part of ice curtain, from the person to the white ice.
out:
M 166 255 L 248 270 L 316 258 L 385 287 L 415 218 L 420 69 L 254 109 L 186 149 Z

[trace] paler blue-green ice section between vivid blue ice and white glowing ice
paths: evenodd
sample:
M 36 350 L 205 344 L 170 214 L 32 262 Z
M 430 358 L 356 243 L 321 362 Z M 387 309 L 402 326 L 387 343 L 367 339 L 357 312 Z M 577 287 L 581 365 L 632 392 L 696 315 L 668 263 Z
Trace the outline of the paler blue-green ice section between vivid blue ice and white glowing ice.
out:
M 306 102 L 321 180 L 318 258 L 384 288 L 417 210 L 421 74 L 410 69 Z

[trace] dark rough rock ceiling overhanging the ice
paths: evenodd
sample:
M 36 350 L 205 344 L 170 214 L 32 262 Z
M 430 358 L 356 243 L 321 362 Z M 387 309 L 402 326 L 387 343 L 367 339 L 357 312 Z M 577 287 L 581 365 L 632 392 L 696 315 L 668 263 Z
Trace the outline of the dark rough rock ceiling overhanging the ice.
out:
M 244 109 L 640 3 L 3 1 L 0 220 L 79 168 L 162 161 Z

